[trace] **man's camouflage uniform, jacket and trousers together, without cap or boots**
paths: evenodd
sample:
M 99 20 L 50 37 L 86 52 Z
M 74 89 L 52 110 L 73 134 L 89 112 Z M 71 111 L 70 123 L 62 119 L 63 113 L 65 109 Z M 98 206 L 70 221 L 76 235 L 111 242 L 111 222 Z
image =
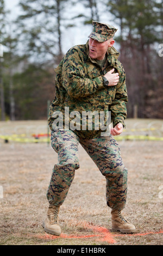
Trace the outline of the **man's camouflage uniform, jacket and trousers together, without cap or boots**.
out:
M 120 149 L 115 139 L 101 136 L 103 130 L 82 130 L 82 120 L 78 120 L 80 129 L 54 130 L 54 113 L 76 111 L 82 117 L 83 112 L 111 112 L 113 126 L 124 124 L 127 117 L 126 74 L 118 60 L 119 53 L 114 47 L 108 49 L 106 62 L 101 68 L 89 57 L 89 43 L 72 47 L 55 69 L 55 99 L 49 109 L 48 123 L 51 128 L 52 147 L 58 153 L 58 163 L 47 191 L 48 202 L 60 206 L 64 203 L 68 190 L 74 179 L 75 170 L 79 168 L 78 144 L 80 143 L 91 159 L 96 163 L 106 178 L 106 201 L 112 209 L 122 210 L 127 197 L 127 169 L 124 167 Z M 118 72 L 120 79 L 116 86 L 106 87 L 103 76 L 112 68 Z M 69 123 L 74 117 L 70 117 Z M 66 118 L 65 118 L 66 123 Z M 106 125 L 106 120 L 104 122 Z M 78 126 L 77 126 L 78 127 Z M 65 127 L 63 127 L 65 129 Z

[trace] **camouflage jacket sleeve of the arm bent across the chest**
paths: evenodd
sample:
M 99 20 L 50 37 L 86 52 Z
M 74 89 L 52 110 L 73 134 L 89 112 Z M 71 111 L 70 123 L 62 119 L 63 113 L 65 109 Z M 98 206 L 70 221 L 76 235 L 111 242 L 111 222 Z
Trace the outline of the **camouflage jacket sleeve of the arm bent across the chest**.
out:
M 78 51 L 72 48 L 62 63 L 62 86 L 68 95 L 73 98 L 86 97 L 104 88 L 103 77 L 90 79 L 85 73 L 84 65 Z

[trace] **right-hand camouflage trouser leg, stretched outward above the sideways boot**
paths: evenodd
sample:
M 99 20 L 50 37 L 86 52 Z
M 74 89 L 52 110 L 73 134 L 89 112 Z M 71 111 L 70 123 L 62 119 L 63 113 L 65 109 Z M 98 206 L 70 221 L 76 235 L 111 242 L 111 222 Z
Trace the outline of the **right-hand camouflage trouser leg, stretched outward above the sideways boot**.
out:
M 122 210 L 127 198 L 127 169 L 122 162 L 118 143 L 112 135 L 80 141 L 106 178 L 106 203 Z

